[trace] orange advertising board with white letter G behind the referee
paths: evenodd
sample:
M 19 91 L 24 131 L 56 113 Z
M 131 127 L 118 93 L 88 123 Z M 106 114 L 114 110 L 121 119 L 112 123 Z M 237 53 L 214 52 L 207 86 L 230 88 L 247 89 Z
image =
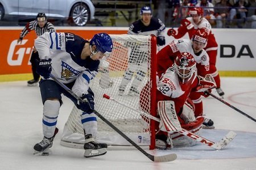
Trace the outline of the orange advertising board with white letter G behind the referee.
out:
M 69 27 L 72 28 L 72 27 Z M 90 40 L 93 35 L 100 32 L 108 34 L 126 34 L 127 29 L 112 30 L 112 29 L 97 29 L 97 27 L 90 27 L 90 29 L 57 29 L 57 32 L 71 32 Z M 31 73 L 30 56 L 34 48 L 34 40 L 36 35 L 34 31 L 28 33 L 21 43 L 17 44 L 19 39 L 20 29 L 0 29 L 0 75 L 6 74 L 24 74 Z

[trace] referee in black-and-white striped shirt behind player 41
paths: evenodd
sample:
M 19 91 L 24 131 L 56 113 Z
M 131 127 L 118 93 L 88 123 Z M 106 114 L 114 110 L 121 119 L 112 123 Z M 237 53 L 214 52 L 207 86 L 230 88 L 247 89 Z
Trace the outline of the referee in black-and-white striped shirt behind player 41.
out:
M 38 13 L 36 16 L 36 20 L 33 20 L 25 26 L 25 28 L 20 32 L 20 36 L 18 39 L 18 43 L 22 41 L 22 39 L 31 31 L 35 30 L 36 36 L 43 35 L 44 32 L 55 32 L 54 26 L 47 22 L 46 20 L 46 14 L 44 13 Z M 34 76 L 34 79 L 29 80 L 27 82 L 27 86 L 36 86 L 39 82 L 40 75 L 36 73 L 36 61 L 39 60 L 39 54 L 36 51 L 35 48 L 33 48 L 33 52 L 30 58 L 31 66 L 32 66 L 32 73 Z

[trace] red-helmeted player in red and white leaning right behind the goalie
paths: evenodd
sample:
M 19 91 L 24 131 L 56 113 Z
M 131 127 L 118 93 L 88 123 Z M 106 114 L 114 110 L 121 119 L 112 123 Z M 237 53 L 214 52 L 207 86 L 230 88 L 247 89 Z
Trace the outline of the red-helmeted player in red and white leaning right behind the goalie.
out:
M 160 50 L 157 54 L 158 73 L 163 73 L 163 71 L 171 66 L 179 53 L 188 52 L 195 58 L 197 74 L 200 76 L 209 74 L 209 56 L 203 49 L 207 44 L 208 32 L 209 30 L 207 28 L 197 29 L 191 40 L 175 40 Z M 201 95 L 191 92 L 189 97 L 193 101 L 193 104 L 195 104 L 195 116 L 203 116 L 203 101 Z M 214 128 L 213 121 L 205 118 L 204 127 Z

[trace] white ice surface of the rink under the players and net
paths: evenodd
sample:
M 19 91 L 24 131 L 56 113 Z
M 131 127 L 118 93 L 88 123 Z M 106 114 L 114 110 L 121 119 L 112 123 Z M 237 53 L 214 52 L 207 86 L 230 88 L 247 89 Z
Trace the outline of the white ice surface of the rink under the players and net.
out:
M 256 78 L 222 78 L 225 101 L 256 118 Z M 216 92 L 213 90 L 213 94 Z M 203 130 L 201 136 L 219 141 L 229 130 L 237 137 L 224 150 L 204 145 L 169 151 L 147 150 L 163 155 L 175 152 L 177 160 L 151 162 L 138 150 L 110 150 L 104 156 L 84 158 L 81 149 L 60 146 L 62 128 L 73 107 L 63 97 L 51 155 L 34 156 L 33 146 L 42 140 L 43 105 L 39 87 L 26 82 L 0 83 L 0 169 L 256 169 L 256 122 L 220 101 L 204 99 L 204 113 L 214 121 L 215 130 Z

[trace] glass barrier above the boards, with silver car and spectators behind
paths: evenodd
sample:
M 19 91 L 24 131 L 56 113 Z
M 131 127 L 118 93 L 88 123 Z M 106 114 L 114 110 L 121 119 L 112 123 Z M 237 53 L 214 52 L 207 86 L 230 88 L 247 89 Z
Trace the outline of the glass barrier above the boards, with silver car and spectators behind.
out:
M 153 17 L 166 27 L 179 27 L 191 7 L 184 5 L 186 1 L 0 0 L 0 26 L 24 26 L 44 12 L 55 26 L 129 27 L 141 18 L 141 7 L 150 6 Z M 256 28 L 255 1 L 246 7 L 216 4 L 203 8 L 213 28 Z M 210 10 L 214 14 L 206 15 Z

